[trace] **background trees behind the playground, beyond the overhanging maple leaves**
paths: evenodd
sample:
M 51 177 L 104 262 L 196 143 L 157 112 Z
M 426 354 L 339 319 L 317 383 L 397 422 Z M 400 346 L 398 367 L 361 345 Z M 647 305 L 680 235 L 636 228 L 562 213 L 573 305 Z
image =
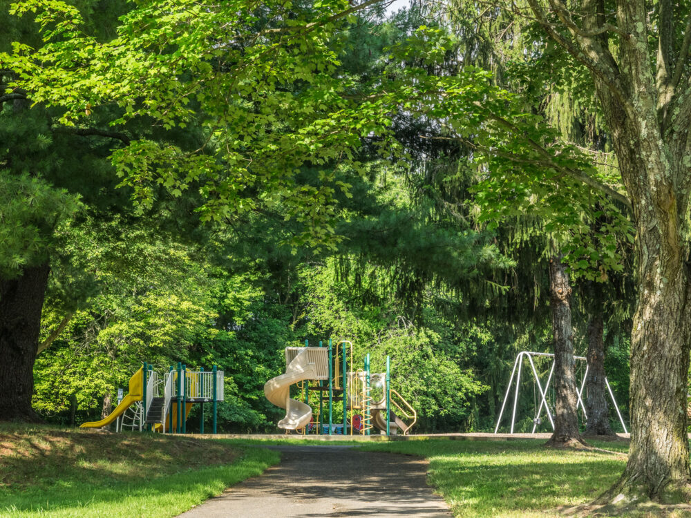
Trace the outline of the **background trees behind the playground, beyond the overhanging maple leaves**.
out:
M 97 4 L 90 4 L 93 23 L 107 34 L 120 13 L 100 11 Z M 417 11 L 388 21 L 382 16 L 369 13 L 344 32 L 341 68 L 332 75 L 352 81 L 354 95 L 357 85 L 364 89 L 383 73 L 426 66 L 422 58 L 400 61 L 385 49 L 430 18 Z M 19 37 L 30 21 L 7 23 Z M 457 33 L 455 50 L 430 73 L 453 74 L 473 64 L 501 81 L 506 64 L 497 63 L 477 31 L 472 38 L 468 32 L 469 39 Z M 303 86 L 294 81 L 296 90 Z M 556 106 L 555 95 L 537 93 L 536 113 L 552 114 L 565 132 L 581 128 L 569 135 L 574 140 L 601 139 L 592 129 L 597 121 L 578 107 Z M 559 99 L 567 103 L 569 97 Z M 478 221 L 473 189 L 482 171 L 470 165 L 471 149 L 445 139 L 444 128 L 425 117 L 395 119 L 399 155 L 383 160 L 372 138 L 359 149 L 357 169 L 337 160 L 325 161 L 322 170 L 301 166 L 299 186 L 330 185 L 337 201 L 330 218 L 341 238 L 319 247 L 300 245 L 301 222 L 290 219 L 291 208 L 280 201 L 201 222 L 193 195 L 176 198 L 161 185 L 142 209 L 131 201 L 133 186 L 118 184 L 107 159 L 113 139 L 122 135 L 68 135 L 51 123 L 59 116 L 52 108 L 6 102 L 2 110 L 3 182 L 28 183 L 22 189 L 30 198 L 42 189 L 29 179 L 40 171 L 41 182 L 79 204 L 73 217 L 56 212 L 51 220 L 51 275 L 33 400 L 47 421 L 78 424 L 107 414 L 117 387 L 142 361 L 158 370 L 180 361 L 225 371 L 220 430 L 275 430 L 281 411 L 265 400 L 263 385 L 283 372 L 283 348 L 332 338 L 352 340 L 358 362 L 369 352 L 375 370 L 391 356 L 392 383 L 417 409 L 419 431 L 491 430 L 515 354 L 551 351 L 546 243 L 554 232 L 540 214 L 511 215 L 500 225 Z M 129 124 L 132 133 L 188 148 L 205 140 L 193 122 L 172 131 L 142 120 Z M 345 183 L 352 186 L 347 194 L 340 189 Z M 16 199 L 13 189 L 8 198 Z M 588 282 L 574 285 L 581 356 L 593 298 Z M 605 315 L 605 369 L 626 416 L 630 314 L 615 299 L 631 294 L 598 293 L 611 303 L 608 310 L 618 308 Z M 538 362 L 538 369 L 544 378 L 548 365 Z M 529 379 L 521 398 L 518 430 L 524 431 L 537 401 Z M 197 420 L 190 422 L 192 428 Z

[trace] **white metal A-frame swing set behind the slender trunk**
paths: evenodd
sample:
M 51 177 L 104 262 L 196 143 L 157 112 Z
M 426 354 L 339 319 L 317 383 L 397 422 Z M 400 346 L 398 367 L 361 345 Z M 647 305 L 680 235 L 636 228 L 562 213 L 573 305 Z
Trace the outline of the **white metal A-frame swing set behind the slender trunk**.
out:
M 518 390 L 520 387 L 520 375 L 521 375 L 521 370 L 523 366 L 523 358 L 527 358 L 528 363 L 530 364 L 531 367 L 531 372 L 533 373 L 533 378 L 536 383 L 536 386 L 538 388 L 538 394 L 540 394 L 540 406 L 538 407 L 538 410 L 535 414 L 535 417 L 533 418 L 533 430 L 531 433 L 535 433 L 536 428 L 538 428 L 538 425 L 542 423 L 540 417 L 542 414 L 542 407 L 545 407 L 545 411 L 547 412 L 547 418 L 549 419 L 549 423 L 551 424 L 552 430 L 554 430 L 554 421 L 552 419 L 552 413 L 550 412 L 550 406 L 548 404 L 548 390 L 549 390 L 549 383 L 552 380 L 552 374 L 554 373 L 554 360 L 552 359 L 552 364 L 549 369 L 549 375 L 547 376 L 547 382 L 545 383 L 545 390 L 542 390 L 542 384 L 540 383 L 540 376 L 538 376 L 538 370 L 535 368 L 535 363 L 533 362 L 533 356 L 542 356 L 542 357 L 548 357 L 548 358 L 554 358 L 554 354 L 551 353 L 546 353 L 546 352 L 531 352 L 531 351 L 521 351 L 518 353 L 516 356 L 515 361 L 513 362 L 513 370 L 511 371 L 511 378 L 509 378 L 509 385 L 507 386 L 507 392 L 504 394 L 504 401 L 502 403 L 502 410 L 499 412 L 499 418 L 497 419 L 497 425 L 494 428 L 494 433 L 496 434 L 499 430 L 499 425 L 502 422 L 502 416 L 504 414 L 504 407 L 507 404 L 507 400 L 509 399 L 509 392 L 511 391 L 511 387 L 514 385 L 513 383 L 513 378 L 515 376 L 515 391 L 513 393 L 513 412 L 511 413 L 511 434 L 513 434 L 513 425 L 515 424 L 515 417 L 516 417 L 516 407 L 518 406 Z M 578 386 L 576 386 L 576 394 L 578 394 L 578 401 L 576 403 L 576 407 L 580 407 L 580 409 L 583 412 L 583 419 L 584 421 L 587 419 L 587 413 L 585 411 L 585 404 L 583 403 L 583 394 L 585 390 L 585 381 L 587 380 L 588 376 L 588 365 L 587 365 L 587 358 L 583 356 L 574 356 L 574 360 L 576 361 L 586 361 L 586 366 L 585 366 L 585 372 L 583 372 L 583 378 L 581 378 L 580 381 L 580 389 Z M 517 369 L 518 367 L 518 369 Z M 516 374 L 518 372 L 518 375 Z M 624 429 L 624 433 L 628 433 L 626 430 L 626 425 L 624 424 L 624 419 L 621 416 L 621 412 L 619 411 L 619 407 L 616 404 L 616 400 L 614 399 L 614 392 L 612 392 L 612 387 L 609 386 L 609 381 L 607 381 L 607 378 L 605 377 L 605 385 L 607 386 L 607 390 L 609 391 L 609 396 L 612 399 L 612 403 L 614 404 L 614 408 L 616 409 L 616 414 L 619 416 L 619 421 L 621 422 L 621 425 Z M 553 408 L 553 406 L 552 406 Z

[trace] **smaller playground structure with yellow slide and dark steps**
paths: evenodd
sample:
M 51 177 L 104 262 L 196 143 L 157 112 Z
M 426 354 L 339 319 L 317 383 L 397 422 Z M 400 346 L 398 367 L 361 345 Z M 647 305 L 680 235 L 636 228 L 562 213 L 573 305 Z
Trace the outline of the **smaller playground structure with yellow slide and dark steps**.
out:
M 223 371 L 216 365 L 205 371 L 188 371 L 186 365 L 160 376 L 153 365 L 142 364 L 129 381 L 129 392 L 105 419 L 83 423 L 80 428 L 103 428 L 115 421 L 123 428 L 162 433 L 187 433 L 187 417 L 194 404 L 200 405 L 200 433 L 204 433 L 204 403 L 211 403 L 213 432 L 216 433 L 218 402 L 223 401 Z M 146 387 L 146 389 L 144 388 Z

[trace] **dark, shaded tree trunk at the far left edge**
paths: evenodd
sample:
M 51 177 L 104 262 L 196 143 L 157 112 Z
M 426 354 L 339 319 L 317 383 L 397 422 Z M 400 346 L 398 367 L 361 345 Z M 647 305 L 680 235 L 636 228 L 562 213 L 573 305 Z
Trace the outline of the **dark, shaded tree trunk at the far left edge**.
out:
M 40 421 L 31 407 L 48 262 L 0 278 L 0 420 Z

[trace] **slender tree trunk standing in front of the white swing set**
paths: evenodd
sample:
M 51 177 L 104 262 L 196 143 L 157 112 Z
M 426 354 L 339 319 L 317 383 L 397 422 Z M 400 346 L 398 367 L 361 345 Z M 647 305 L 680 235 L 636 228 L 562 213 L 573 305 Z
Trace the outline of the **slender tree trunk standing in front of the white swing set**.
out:
M 549 261 L 549 291 L 554 336 L 554 432 L 547 445 L 582 442 L 578 432 L 574 330 L 571 327 L 571 285 L 560 256 Z

